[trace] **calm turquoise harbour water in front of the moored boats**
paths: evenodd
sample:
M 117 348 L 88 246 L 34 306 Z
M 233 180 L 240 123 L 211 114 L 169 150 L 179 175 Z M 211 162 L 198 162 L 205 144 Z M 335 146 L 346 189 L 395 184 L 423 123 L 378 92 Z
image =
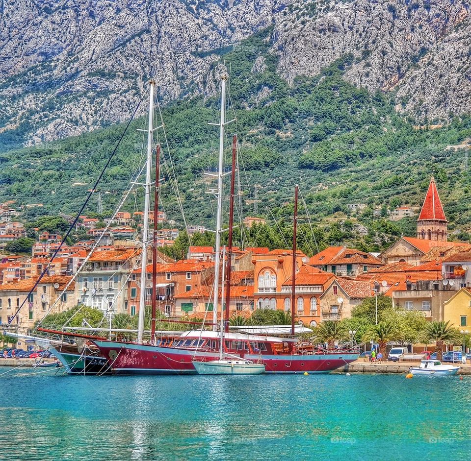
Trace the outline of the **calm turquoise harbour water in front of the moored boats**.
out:
M 0 459 L 469 460 L 470 416 L 471 377 L 12 372 Z

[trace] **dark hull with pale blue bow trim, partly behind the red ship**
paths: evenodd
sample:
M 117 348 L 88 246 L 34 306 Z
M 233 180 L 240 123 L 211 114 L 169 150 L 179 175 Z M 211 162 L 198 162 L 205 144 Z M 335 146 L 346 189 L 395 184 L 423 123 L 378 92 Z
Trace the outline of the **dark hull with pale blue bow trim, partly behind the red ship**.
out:
M 72 344 L 51 347 L 51 352 L 69 375 L 97 375 L 111 373 L 108 361 L 96 353 L 81 353 Z

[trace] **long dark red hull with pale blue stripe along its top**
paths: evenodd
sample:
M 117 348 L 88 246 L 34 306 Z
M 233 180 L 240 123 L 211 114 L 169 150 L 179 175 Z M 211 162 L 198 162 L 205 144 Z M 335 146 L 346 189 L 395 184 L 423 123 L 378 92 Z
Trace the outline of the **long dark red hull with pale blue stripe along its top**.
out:
M 189 349 L 119 343 L 95 340 L 101 355 L 108 359 L 114 374 L 195 374 L 192 363 L 219 358 L 217 352 L 196 352 Z M 358 354 L 335 353 L 315 355 L 250 355 L 244 359 L 260 361 L 266 373 L 329 373 L 358 359 Z

